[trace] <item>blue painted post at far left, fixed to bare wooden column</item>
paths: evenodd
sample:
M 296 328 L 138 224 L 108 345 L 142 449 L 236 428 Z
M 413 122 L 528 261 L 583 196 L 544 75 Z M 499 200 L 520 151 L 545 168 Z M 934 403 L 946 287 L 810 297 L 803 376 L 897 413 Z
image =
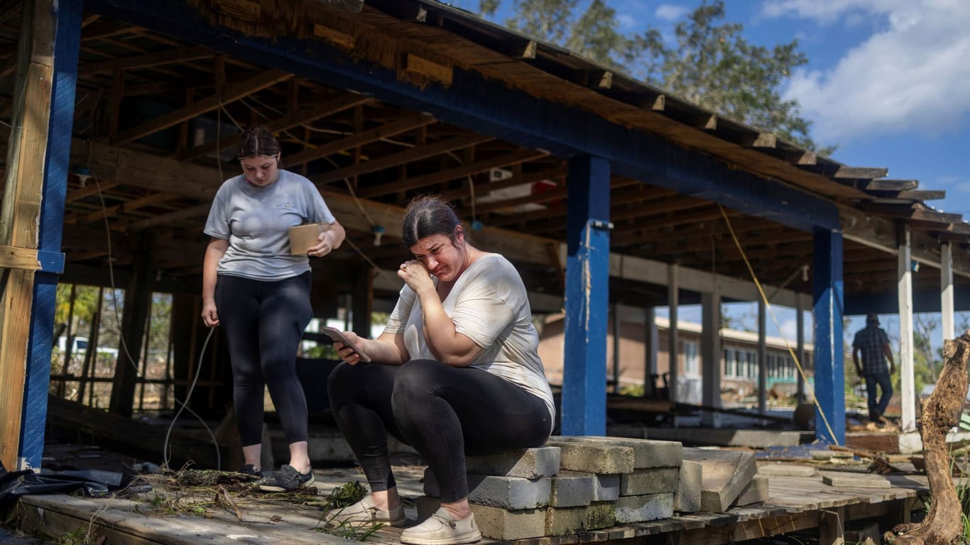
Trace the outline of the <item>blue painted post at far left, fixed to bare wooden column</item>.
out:
M 54 2 L 54 75 L 50 97 L 48 150 L 44 168 L 44 196 L 38 240 L 42 270 L 34 274 L 27 376 L 23 393 L 23 425 L 18 457 L 30 467 L 40 467 L 44 453 L 44 426 L 48 417 L 50 348 L 53 342 L 57 276 L 64 270 L 60 253 L 64 225 L 64 196 L 70 171 L 74 96 L 81 48 L 83 0 Z

